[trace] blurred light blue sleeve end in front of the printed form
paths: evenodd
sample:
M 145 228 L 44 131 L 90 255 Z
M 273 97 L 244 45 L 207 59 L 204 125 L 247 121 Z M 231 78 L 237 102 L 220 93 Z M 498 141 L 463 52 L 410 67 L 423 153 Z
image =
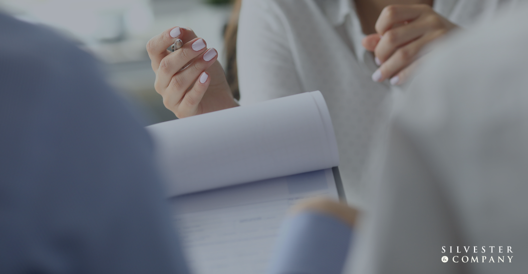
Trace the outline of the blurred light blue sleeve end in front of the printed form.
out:
M 341 274 L 352 229 L 322 213 L 304 212 L 285 221 L 270 274 Z

